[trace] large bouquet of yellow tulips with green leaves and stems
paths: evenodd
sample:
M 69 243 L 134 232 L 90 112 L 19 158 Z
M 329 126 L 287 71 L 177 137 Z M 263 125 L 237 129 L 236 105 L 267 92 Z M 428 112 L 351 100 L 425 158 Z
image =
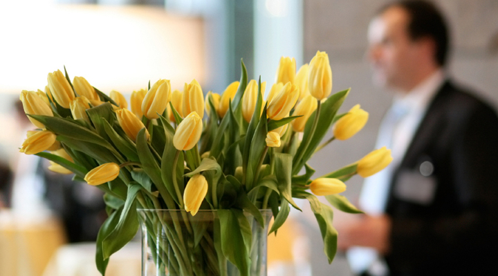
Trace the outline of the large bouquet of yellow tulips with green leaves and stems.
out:
M 294 198 L 311 204 L 332 262 L 338 233 L 331 206 L 361 213 L 338 195 L 346 189 L 344 181 L 382 170 L 390 151 L 374 150 L 311 179 L 315 170 L 306 161 L 334 139 L 355 135 L 368 119 L 360 106 L 338 114 L 349 89 L 329 97 L 332 72 L 325 52 L 297 73 L 295 60 L 282 57 L 266 101 L 265 90 L 261 79 L 248 81 L 242 62 L 240 81 L 221 96 L 204 97 L 195 80 L 181 92 L 160 79 L 148 90 L 133 91 L 129 110 L 120 92 L 105 95 L 83 77 L 71 82 L 58 70 L 48 74 L 45 92 L 21 92 L 24 110 L 38 128 L 28 132 L 21 152 L 44 157 L 50 170 L 74 173 L 75 180 L 105 192 L 109 218 L 100 229 L 96 256 L 102 275 L 109 257 L 136 235 L 139 221 L 148 229 L 153 254 L 161 256 L 163 273 L 228 275 L 230 263 L 238 275 L 252 275 L 264 262 L 251 249 L 251 232 L 264 229 L 261 213 L 270 210 L 270 233 L 276 233 L 291 206 L 299 209 Z M 321 144 L 331 126 L 333 137 Z M 140 216 L 140 208 L 152 212 Z M 165 219 L 162 209 L 183 211 Z M 214 226 L 194 220 L 203 210 L 216 210 Z M 158 233 L 156 225 L 166 230 Z M 187 230 L 180 230 L 183 226 Z M 159 235 L 167 241 L 158 242 Z M 167 247 L 173 253 L 165 253 Z

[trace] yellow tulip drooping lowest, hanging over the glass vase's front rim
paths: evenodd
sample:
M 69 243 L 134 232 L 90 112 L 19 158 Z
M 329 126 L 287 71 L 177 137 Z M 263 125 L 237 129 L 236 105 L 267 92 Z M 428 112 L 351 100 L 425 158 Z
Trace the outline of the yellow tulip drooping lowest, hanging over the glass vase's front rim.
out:
M 194 175 L 185 186 L 183 193 L 183 201 L 185 202 L 185 210 L 193 216 L 201 207 L 205 195 L 208 193 L 208 181 L 203 175 Z

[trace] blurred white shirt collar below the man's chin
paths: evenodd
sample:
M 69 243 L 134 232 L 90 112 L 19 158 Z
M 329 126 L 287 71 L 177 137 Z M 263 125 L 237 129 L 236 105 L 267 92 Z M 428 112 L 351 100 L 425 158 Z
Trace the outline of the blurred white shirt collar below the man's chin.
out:
M 407 94 L 395 95 L 393 106 L 400 106 L 412 112 L 414 110 L 425 110 L 430 101 L 436 95 L 445 81 L 445 72 L 439 69 L 430 77 L 427 77 L 421 83 L 409 91 Z

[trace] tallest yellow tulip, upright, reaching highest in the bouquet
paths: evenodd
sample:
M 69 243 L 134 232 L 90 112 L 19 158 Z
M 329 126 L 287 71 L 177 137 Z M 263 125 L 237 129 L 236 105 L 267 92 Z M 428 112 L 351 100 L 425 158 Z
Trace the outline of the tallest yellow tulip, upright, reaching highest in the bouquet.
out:
M 311 59 L 308 70 L 308 90 L 319 100 L 329 97 L 332 92 L 332 70 L 326 52 L 318 51 Z

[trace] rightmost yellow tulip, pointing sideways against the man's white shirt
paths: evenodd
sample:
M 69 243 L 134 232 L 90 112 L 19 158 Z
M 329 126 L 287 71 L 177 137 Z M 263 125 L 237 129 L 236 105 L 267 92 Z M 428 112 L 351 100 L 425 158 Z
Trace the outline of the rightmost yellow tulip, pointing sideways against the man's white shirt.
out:
M 356 172 L 361 177 L 369 177 L 383 170 L 392 161 L 391 150 L 386 147 L 379 148 L 365 155 L 358 161 Z

